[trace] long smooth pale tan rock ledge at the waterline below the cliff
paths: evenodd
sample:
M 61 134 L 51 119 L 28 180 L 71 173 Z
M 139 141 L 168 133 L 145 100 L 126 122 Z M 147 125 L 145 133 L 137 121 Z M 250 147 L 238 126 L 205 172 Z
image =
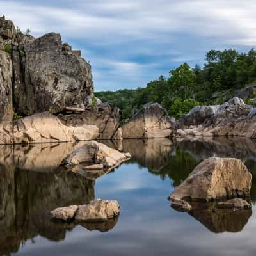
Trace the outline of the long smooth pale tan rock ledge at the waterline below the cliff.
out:
M 67 127 L 48 112 L 0 124 L 0 144 L 93 140 L 98 135 L 95 125 Z

